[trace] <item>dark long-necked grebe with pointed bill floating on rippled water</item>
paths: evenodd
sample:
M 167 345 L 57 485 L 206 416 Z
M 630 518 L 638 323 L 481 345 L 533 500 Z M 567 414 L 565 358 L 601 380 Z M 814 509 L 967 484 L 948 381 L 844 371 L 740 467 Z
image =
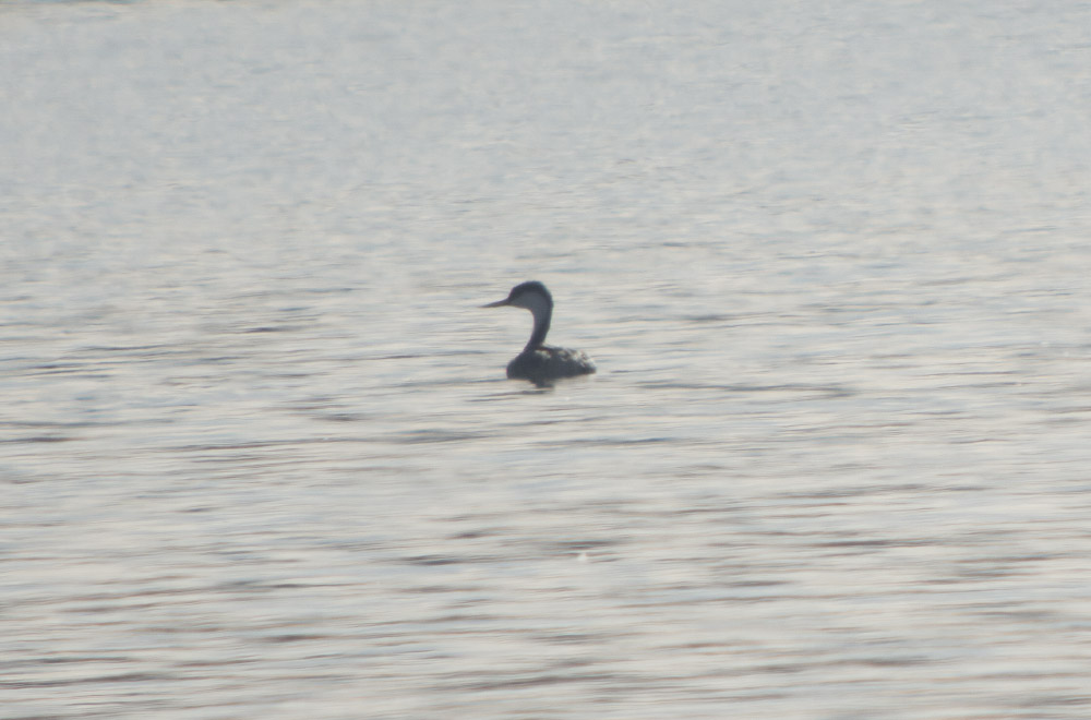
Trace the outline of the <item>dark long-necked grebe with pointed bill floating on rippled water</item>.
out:
M 538 280 L 521 283 L 512 288 L 503 300 L 490 302 L 482 308 L 500 308 L 513 305 L 526 308 L 535 316 L 535 329 L 530 334 L 527 347 L 523 352 L 507 363 L 507 376 L 511 380 L 529 380 L 539 387 L 549 385 L 560 377 L 587 375 L 595 372 L 595 363 L 587 353 L 579 350 L 558 348 L 546 345 L 546 334 L 549 333 L 549 321 L 553 316 L 553 296 Z

